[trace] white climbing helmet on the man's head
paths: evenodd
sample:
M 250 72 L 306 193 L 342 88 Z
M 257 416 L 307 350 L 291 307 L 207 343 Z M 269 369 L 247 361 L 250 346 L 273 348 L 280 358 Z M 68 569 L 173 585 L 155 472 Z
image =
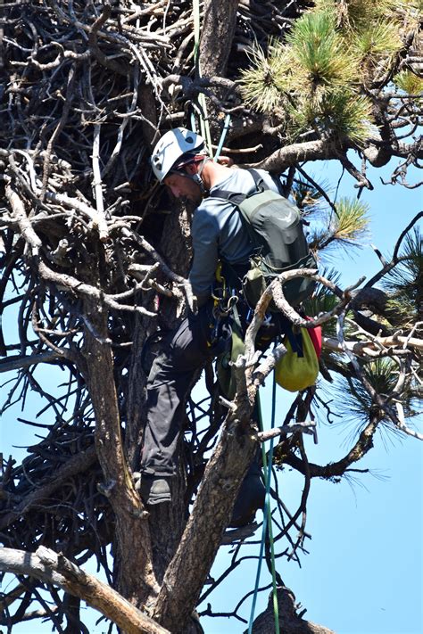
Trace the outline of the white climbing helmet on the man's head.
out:
M 203 149 L 204 139 L 195 132 L 186 128 L 169 130 L 153 149 L 151 164 L 154 176 L 162 183 L 181 156 L 187 152 L 202 154 Z

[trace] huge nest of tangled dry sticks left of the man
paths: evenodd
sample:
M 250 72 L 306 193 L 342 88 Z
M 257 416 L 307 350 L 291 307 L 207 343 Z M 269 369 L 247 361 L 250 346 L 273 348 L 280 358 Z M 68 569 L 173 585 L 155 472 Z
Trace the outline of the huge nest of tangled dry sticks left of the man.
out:
M 219 95 L 220 110 L 233 112 L 235 128 L 236 118 L 242 122 L 248 115 L 234 84 L 247 62 L 246 48 L 254 40 L 266 45 L 270 35 L 281 35 L 300 8 L 295 2 L 239 4 L 227 78 L 216 78 L 209 86 L 213 103 Z M 93 326 L 78 293 L 41 279 L 22 236 L 29 228 L 35 230 L 41 257 L 54 275 L 75 276 L 93 288 L 100 275 L 103 288 L 113 296 L 132 293 L 125 303 L 134 307 L 136 283 L 128 277 L 129 268 L 142 268 L 145 262 L 150 266 L 153 260 L 151 252 L 143 252 L 139 244 L 134 247 L 121 229 L 133 226 L 137 232 L 142 224 L 143 235 L 154 246 L 161 237 L 161 212 L 169 203 L 154 195 L 148 156 L 160 131 L 187 124 L 190 112 L 198 112 L 202 82 L 195 78 L 192 6 L 168 0 L 112 6 L 19 2 L 4 4 L 2 10 L 2 183 L 17 193 L 30 218 L 20 220 L 6 208 L 0 230 L 2 298 L 6 284 L 14 284 L 18 294 L 25 288 L 20 296 L 20 342 L 6 345 L 0 333 L 4 364 L 9 364 L 4 369 L 21 368 L 6 408 L 17 395 L 24 402 L 27 391 L 35 389 L 46 397 L 47 409 L 54 410 L 56 418 L 55 424 L 45 425 L 46 440 L 29 448 L 22 465 L 15 466 L 12 458 L 4 462 L 2 537 L 14 548 L 31 548 L 42 539 L 73 555 L 89 546 L 104 559 L 109 512 L 96 486 L 101 475 L 95 455 L 89 453 L 93 420 L 87 393 L 75 375 L 74 357 L 59 358 L 72 347 L 78 356 L 79 333 L 83 326 L 92 331 Z M 38 331 L 41 341 L 34 342 L 31 324 L 44 328 Z M 121 373 L 129 363 L 124 346 L 133 327 L 130 315 L 113 317 L 116 375 L 123 392 Z M 76 395 L 70 421 L 62 416 L 65 397 L 44 393 L 30 364 L 22 368 L 22 358 L 31 355 L 34 360 L 46 355 L 46 361 L 69 367 L 66 390 Z M 75 461 L 73 472 L 62 472 L 78 456 L 80 464 Z M 37 491 L 38 498 L 33 498 Z

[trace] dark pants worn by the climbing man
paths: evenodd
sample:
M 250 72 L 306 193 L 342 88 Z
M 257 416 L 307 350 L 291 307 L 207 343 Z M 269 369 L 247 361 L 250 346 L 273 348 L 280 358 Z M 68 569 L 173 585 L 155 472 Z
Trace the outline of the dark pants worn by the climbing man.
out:
M 181 421 L 195 370 L 221 350 L 221 342 L 210 344 L 211 309 L 209 302 L 197 315 L 184 319 L 173 333 L 168 350 L 153 362 L 147 382 L 147 424 L 141 455 L 144 473 L 170 476 L 176 471 Z

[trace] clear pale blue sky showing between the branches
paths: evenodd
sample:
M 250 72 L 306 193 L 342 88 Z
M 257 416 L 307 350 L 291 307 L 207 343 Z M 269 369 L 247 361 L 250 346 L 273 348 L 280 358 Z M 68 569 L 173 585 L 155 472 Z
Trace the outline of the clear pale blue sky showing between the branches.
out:
M 310 164 L 308 166 L 310 169 Z M 328 179 L 336 185 L 340 174 L 332 162 L 316 163 L 313 177 Z M 419 190 L 405 190 L 400 186 L 380 185 L 380 177 L 388 177 L 388 170 L 374 170 L 370 179 L 376 191 L 362 194 L 369 202 L 371 214 L 371 240 L 384 251 L 392 251 L 396 236 L 411 218 L 422 209 Z M 353 181 L 344 177 L 340 195 L 355 196 Z M 342 272 L 343 286 L 355 282 L 360 276 L 373 275 L 379 268 L 374 251 L 368 245 L 354 251 L 353 257 L 342 253 L 332 264 Z M 7 327 L 12 329 L 15 323 Z M 47 373 L 54 373 L 48 375 Z M 57 370 L 45 370 L 48 383 L 60 383 Z M 1 377 L 2 383 L 6 376 Z M 269 390 L 265 392 L 264 420 L 269 421 Z M 2 400 L 7 386 L 2 387 Z M 36 397 L 28 401 L 29 411 L 37 408 Z M 288 407 L 286 393 L 278 390 L 278 418 L 282 421 Z M 33 430 L 16 422 L 21 416 L 17 408 L 8 410 L 0 425 L 1 447 L 7 456 L 12 445 L 30 444 Z M 421 428 L 420 428 L 421 429 Z M 325 464 L 344 456 L 349 447 L 351 427 L 319 425 L 319 444 L 314 446 L 306 437 L 305 443 L 311 460 Z M 351 439 L 350 439 L 351 442 Z M 362 474 L 357 483 L 313 481 L 309 498 L 307 530 L 312 539 L 307 547 L 310 555 L 302 557 L 302 568 L 286 559 L 279 560 L 278 571 L 286 585 L 294 590 L 296 598 L 307 608 L 306 618 L 336 630 L 337 634 L 421 634 L 423 616 L 422 589 L 422 449 L 423 443 L 409 437 L 393 438 L 377 433 L 375 448 L 360 463 L 372 474 Z M 13 450 L 13 455 L 24 451 Z M 286 471 L 279 478 L 287 506 L 295 509 L 301 493 L 302 481 L 293 472 Z M 254 547 L 257 548 L 258 547 Z M 253 553 L 253 547 L 251 550 Z M 250 554 L 250 550 L 248 551 Z M 217 569 L 221 568 L 221 556 Z M 253 588 L 255 564 L 248 565 L 229 577 L 218 592 L 220 605 L 215 609 L 231 610 L 244 590 Z M 269 575 L 262 573 L 262 582 Z M 267 603 L 262 597 L 256 613 Z M 202 609 L 203 606 L 200 607 Z M 248 619 L 250 605 L 246 603 L 243 616 Z M 95 618 L 97 618 L 95 616 Z M 95 621 L 93 618 L 93 622 Z M 242 632 L 241 622 L 204 620 L 206 634 L 232 634 Z M 30 622 L 13 628 L 16 634 L 37 634 L 51 631 L 45 623 Z M 104 627 L 92 626 L 94 634 Z

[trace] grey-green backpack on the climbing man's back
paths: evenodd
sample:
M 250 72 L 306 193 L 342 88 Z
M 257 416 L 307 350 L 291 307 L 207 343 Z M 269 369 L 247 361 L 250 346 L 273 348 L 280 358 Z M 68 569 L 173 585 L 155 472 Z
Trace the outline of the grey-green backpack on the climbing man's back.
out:
M 273 192 L 255 169 L 248 171 L 253 176 L 255 192 L 216 190 L 211 195 L 235 205 L 250 235 L 254 251 L 243 288 L 246 301 L 254 307 L 274 277 L 293 268 L 317 268 L 317 264 L 305 239 L 300 211 L 280 193 Z M 314 286 L 311 279 L 296 277 L 284 284 L 286 300 L 296 306 L 311 295 Z

